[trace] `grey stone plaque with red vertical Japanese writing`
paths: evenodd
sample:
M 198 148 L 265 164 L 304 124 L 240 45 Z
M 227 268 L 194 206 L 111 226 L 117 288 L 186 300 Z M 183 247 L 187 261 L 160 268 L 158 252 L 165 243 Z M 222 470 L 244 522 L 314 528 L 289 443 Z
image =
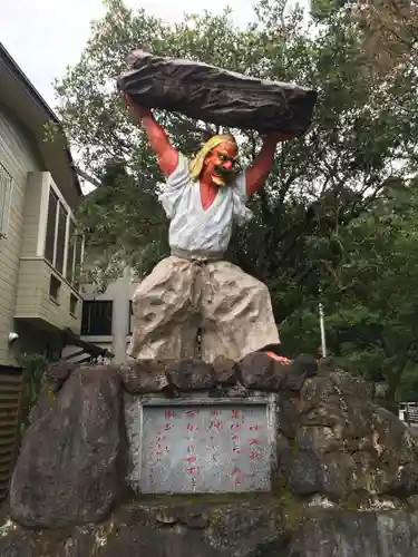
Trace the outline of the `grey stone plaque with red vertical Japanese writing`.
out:
M 268 403 L 144 405 L 143 494 L 268 491 Z

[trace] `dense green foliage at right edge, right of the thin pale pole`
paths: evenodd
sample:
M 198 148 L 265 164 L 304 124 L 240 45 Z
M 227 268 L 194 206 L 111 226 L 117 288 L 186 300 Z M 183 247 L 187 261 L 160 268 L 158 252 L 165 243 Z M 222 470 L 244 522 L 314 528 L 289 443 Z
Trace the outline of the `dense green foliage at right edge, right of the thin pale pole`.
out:
M 331 352 L 347 358 L 364 378 L 387 382 L 392 403 L 414 381 L 418 364 L 418 183 L 398 184 L 369 212 L 331 236 L 339 264 L 327 262 L 327 336 Z M 320 248 L 320 244 L 315 244 Z M 320 254 L 327 257 L 327 254 Z M 285 322 L 284 334 L 313 349 L 315 307 Z M 291 341 L 290 341 L 291 342 Z

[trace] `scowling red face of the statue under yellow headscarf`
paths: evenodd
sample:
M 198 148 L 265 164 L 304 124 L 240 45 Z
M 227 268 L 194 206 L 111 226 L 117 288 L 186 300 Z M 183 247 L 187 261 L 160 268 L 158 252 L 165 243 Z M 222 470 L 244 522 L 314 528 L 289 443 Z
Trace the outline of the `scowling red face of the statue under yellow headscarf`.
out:
M 205 159 L 202 178 L 215 186 L 224 186 L 235 174 L 237 147 L 235 143 L 224 141 L 214 147 Z

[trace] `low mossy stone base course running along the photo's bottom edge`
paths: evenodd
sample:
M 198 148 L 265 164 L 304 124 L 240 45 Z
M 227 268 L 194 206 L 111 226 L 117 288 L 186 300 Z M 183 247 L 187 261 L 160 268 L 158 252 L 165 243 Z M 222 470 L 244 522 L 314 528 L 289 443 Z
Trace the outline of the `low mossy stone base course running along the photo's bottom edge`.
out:
M 193 521 L 187 524 L 189 517 Z M 130 504 L 101 525 L 0 527 L 2 557 L 418 557 L 418 514 L 280 499 Z

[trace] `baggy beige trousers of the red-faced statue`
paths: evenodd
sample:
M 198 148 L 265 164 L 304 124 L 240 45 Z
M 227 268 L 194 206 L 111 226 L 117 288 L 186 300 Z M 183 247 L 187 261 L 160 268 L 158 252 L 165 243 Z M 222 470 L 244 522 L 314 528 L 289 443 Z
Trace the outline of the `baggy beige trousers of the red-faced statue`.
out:
M 133 311 L 128 355 L 137 360 L 196 356 L 198 329 L 206 362 L 280 343 L 268 287 L 225 261 L 163 260 L 136 290 Z

